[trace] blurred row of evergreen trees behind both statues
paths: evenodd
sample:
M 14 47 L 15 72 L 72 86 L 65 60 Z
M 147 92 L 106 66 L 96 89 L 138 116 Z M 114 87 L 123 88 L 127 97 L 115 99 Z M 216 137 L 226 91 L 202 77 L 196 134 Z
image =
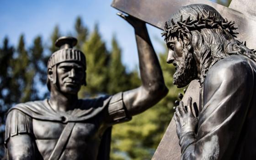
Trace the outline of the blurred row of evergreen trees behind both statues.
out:
M 231 0 L 218 0 L 228 6 Z M 138 87 L 141 82 L 138 69 L 127 71 L 122 63 L 122 49 L 115 36 L 112 47 L 107 49 L 98 25 L 89 31 L 80 17 L 77 17 L 72 36 L 77 37 L 76 48 L 86 55 L 87 86 L 79 92 L 80 98 L 113 95 Z M 31 46 L 26 45 L 21 35 L 17 46 L 9 44 L 8 37 L 0 45 L 0 158 L 4 156 L 5 114 L 17 103 L 46 98 L 47 61 L 51 53 L 58 50 L 55 41 L 63 36 L 59 27 L 53 28 L 50 43 L 43 43 L 42 37 L 34 38 Z M 166 49 L 163 43 L 163 48 Z M 181 89 L 172 84 L 175 69 L 165 62 L 167 49 L 158 53 L 168 95 L 154 107 L 133 117 L 128 123 L 117 124 L 112 129 L 111 160 L 151 159 L 165 129 L 173 115 L 174 101 Z

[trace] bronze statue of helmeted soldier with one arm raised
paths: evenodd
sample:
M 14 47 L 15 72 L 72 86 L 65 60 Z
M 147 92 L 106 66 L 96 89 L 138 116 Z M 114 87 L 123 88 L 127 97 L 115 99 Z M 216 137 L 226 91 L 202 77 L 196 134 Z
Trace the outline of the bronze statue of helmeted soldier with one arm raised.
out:
M 110 127 L 144 112 L 167 94 L 145 23 L 119 16 L 135 30 L 142 86 L 114 96 L 78 99 L 81 85 L 86 85 L 85 56 L 72 48 L 75 38 L 59 38 L 60 50 L 48 60 L 50 98 L 17 104 L 8 112 L 9 160 L 108 160 Z

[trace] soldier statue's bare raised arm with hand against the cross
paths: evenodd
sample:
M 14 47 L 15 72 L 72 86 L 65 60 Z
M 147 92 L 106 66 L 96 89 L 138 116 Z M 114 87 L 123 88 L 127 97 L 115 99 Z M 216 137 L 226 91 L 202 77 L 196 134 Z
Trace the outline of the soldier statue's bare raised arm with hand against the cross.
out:
M 123 92 L 123 102 L 128 115 L 139 114 L 154 106 L 168 92 L 155 50 L 149 39 L 146 24 L 133 17 L 117 13 L 130 23 L 135 31 L 139 54 L 139 70 L 142 86 Z

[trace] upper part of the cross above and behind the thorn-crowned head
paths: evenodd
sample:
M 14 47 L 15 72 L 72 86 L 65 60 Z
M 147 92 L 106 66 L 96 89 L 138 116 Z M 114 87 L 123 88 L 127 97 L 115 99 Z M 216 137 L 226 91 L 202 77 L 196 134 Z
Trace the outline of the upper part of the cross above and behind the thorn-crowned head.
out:
M 236 31 L 240 33 L 237 39 L 246 40 L 247 47 L 255 48 L 256 3 L 253 0 L 233 0 L 229 8 L 209 0 L 113 0 L 112 7 L 163 30 L 165 21 L 181 6 L 197 3 L 210 5 L 224 18 L 235 21 Z

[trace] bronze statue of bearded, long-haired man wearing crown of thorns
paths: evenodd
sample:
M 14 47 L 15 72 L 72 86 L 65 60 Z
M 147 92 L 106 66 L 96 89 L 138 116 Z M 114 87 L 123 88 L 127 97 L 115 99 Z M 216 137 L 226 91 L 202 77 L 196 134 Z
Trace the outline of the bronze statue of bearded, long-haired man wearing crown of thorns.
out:
M 256 157 L 256 54 L 235 39 L 234 24 L 203 4 L 181 7 L 165 23 L 174 83 L 200 80 L 199 116 L 191 98 L 174 115 L 183 160 Z

